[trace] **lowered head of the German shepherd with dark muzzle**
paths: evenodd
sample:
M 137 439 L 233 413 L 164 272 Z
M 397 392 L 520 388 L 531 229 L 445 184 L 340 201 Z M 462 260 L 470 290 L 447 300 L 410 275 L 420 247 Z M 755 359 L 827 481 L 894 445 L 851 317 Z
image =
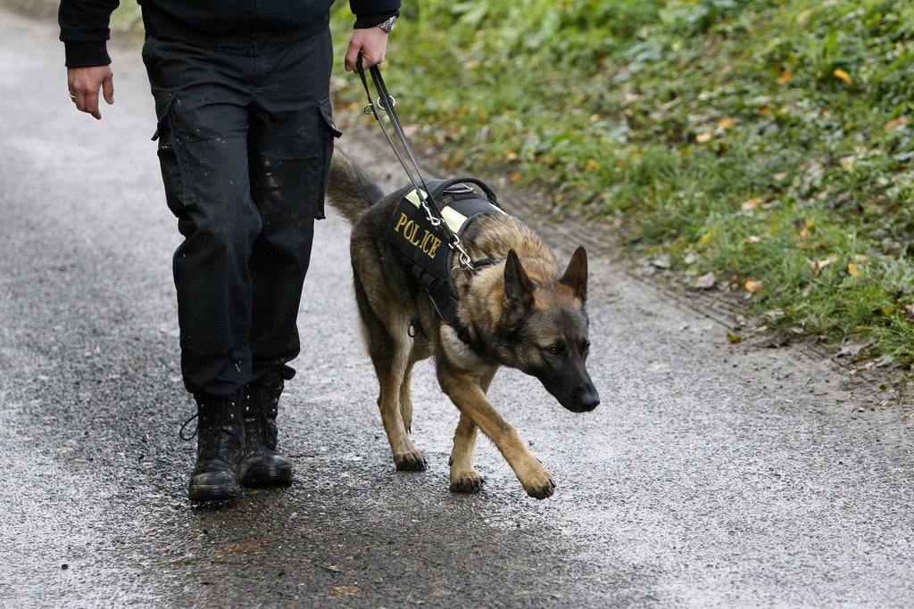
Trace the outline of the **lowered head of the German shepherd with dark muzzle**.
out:
M 505 262 L 504 313 L 499 328 L 502 357 L 510 366 L 537 377 L 570 411 L 583 413 L 600 404 L 587 372 L 587 252 L 579 247 L 565 274 L 537 283 L 514 250 Z

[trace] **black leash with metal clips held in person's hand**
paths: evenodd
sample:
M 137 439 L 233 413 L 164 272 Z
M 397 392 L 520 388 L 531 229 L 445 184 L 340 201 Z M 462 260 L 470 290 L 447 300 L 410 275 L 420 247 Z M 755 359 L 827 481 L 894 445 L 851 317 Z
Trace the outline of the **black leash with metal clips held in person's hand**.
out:
M 441 207 L 438 205 L 438 202 L 435 201 L 435 198 L 431 194 L 431 190 L 428 184 L 425 182 L 425 178 L 422 176 L 422 172 L 419 169 L 419 163 L 416 161 L 416 157 L 412 152 L 412 147 L 409 146 L 409 140 L 406 137 L 406 132 L 403 131 L 403 125 L 400 123 L 399 116 L 395 108 L 397 105 L 397 100 L 395 100 L 390 95 L 390 93 L 388 93 L 388 88 L 384 84 L 384 79 L 381 77 L 380 68 L 377 68 L 377 66 L 368 68 L 368 72 L 371 74 L 371 79 L 375 85 L 375 89 L 377 90 L 377 102 L 372 99 L 371 89 L 368 88 L 368 79 L 365 76 L 365 69 L 362 67 L 361 56 L 356 59 L 356 69 L 358 69 L 358 75 L 362 79 L 362 85 L 365 87 L 365 93 L 368 97 L 368 105 L 365 108 L 366 114 L 373 115 L 377 121 L 377 124 L 380 125 L 381 131 L 384 133 L 384 138 L 390 145 L 390 149 L 397 156 L 397 160 L 403 166 L 403 170 L 409 177 L 409 182 L 412 184 L 413 188 L 415 188 L 416 195 L 420 199 L 422 208 L 425 210 L 431 226 L 434 226 L 440 230 L 442 235 L 445 237 L 445 240 L 447 241 L 448 247 L 451 247 L 459 254 L 460 266 L 464 269 L 472 271 L 472 258 L 463 248 L 460 237 L 451 230 L 451 227 L 448 226 L 446 222 L 444 222 L 444 219 L 441 216 Z M 403 147 L 403 150 L 406 151 L 406 154 L 409 157 L 409 163 L 412 164 L 411 170 L 407 160 L 403 158 L 403 155 L 399 152 L 397 146 L 394 144 L 393 139 L 388 134 L 388 130 L 384 126 L 384 122 L 381 121 L 381 117 L 377 113 L 377 107 L 380 107 L 381 110 L 387 112 L 388 119 L 390 124 L 393 125 L 397 139 L 399 140 L 400 145 Z

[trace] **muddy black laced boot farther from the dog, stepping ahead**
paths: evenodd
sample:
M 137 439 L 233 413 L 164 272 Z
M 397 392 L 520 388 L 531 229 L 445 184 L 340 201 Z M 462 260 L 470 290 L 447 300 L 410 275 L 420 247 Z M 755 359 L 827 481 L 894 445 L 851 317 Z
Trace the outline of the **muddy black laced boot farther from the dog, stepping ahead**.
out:
M 197 466 L 187 494 L 191 501 L 221 501 L 241 496 L 239 466 L 244 457 L 241 392 L 197 399 Z

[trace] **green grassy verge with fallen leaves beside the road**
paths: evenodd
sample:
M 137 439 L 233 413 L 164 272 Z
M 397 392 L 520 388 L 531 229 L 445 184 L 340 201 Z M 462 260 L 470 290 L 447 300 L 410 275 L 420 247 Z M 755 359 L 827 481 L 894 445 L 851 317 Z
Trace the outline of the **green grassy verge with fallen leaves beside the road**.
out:
M 910 3 L 407 4 L 385 74 L 440 163 L 545 189 L 661 275 L 910 370 Z

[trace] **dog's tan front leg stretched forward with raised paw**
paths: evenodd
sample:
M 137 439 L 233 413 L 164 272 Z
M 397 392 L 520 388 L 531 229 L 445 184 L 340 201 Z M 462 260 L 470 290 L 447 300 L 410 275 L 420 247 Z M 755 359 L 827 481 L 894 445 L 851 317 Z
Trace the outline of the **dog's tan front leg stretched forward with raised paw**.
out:
M 465 417 L 489 436 L 508 465 L 514 469 L 515 476 L 520 480 L 527 495 L 536 499 L 551 496 L 556 485 L 553 484 L 546 467 L 526 449 L 517 430 L 495 411 L 494 406 L 486 399 L 480 382 L 470 373 L 452 369 L 441 358 L 437 362 L 441 389 L 460 409 L 461 423 Z M 458 435 L 460 432 L 461 427 L 458 425 Z M 466 444 L 455 437 L 455 448 L 459 443 Z

